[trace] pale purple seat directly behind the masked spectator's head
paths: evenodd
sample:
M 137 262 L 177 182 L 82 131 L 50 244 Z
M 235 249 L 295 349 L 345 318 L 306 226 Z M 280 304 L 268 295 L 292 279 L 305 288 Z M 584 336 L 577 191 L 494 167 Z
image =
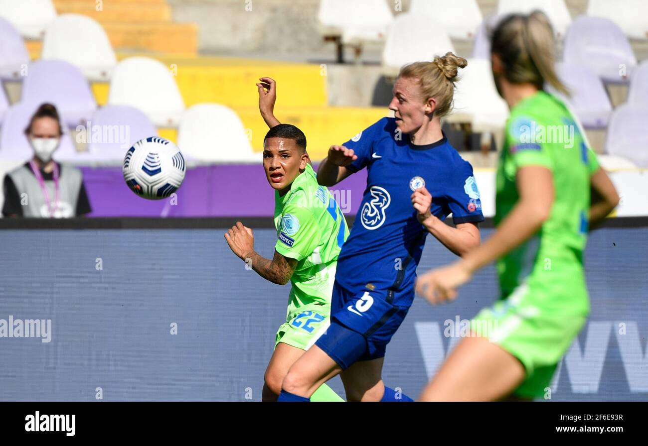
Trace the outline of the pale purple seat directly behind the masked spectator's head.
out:
M 25 136 L 25 128 L 29 125 L 29 120 L 38 109 L 38 106 L 40 104 L 33 105 L 19 102 L 6 111 L 0 135 L 0 158 L 24 159 L 27 161 L 34 155 L 29 140 Z M 73 153 L 75 153 L 74 142 L 67 133 L 67 128 L 64 128 L 61 145 L 54 153 L 54 159 L 66 159 Z

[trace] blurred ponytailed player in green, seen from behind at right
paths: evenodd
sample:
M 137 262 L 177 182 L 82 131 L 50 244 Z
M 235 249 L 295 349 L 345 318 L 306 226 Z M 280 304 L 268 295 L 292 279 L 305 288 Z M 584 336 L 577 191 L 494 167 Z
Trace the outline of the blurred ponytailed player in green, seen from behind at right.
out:
M 496 183 L 496 230 L 462 260 L 419 275 L 436 303 L 456 296 L 498 260 L 500 298 L 482 309 L 421 399 L 550 397 L 551 377 L 590 310 L 583 249 L 590 226 L 618 203 L 575 115 L 546 85 L 568 95 L 555 72 L 555 42 L 539 11 L 500 19 L 491 33 L 492 73 L 511 115 Z M 590 199 L 590 188 L 598 199 Z

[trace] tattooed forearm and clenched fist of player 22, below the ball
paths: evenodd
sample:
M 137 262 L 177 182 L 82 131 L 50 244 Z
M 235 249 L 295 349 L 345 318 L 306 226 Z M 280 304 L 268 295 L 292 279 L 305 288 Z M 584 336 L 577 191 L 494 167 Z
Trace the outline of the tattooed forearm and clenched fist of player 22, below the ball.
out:
M 238 258 L 248 263 L 259 276 L 270 280 L 273 284 L 287 284 L 295 272 L 297 260 L 284 257 L 277 251 L 270 260 L 254 251 L 252 230 L 245 227 L 240 221 L 237 221 L 237 224 L 226 232 L 225 240 Z

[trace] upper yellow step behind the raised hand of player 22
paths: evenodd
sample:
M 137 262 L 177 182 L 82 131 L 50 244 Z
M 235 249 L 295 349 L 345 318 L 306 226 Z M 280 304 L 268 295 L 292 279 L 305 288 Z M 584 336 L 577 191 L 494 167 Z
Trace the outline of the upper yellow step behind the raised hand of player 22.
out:
M 117 54 L 122 60 L 143 54 Z M 228 107 L 256 107 L 259 93 L 255 84 L 261 76 L 277 81 L 277 107 L 326 106 L 326 77 L 319 65 L 283 63 L 237 58 L 186 57 L 167 54 L 145 55 L 164 63 L 176 75 L 180 93 L 189 107 L 201 102 L 216 102 Z M 108 84 L 92 85 L 97 103 L 106 104 Z

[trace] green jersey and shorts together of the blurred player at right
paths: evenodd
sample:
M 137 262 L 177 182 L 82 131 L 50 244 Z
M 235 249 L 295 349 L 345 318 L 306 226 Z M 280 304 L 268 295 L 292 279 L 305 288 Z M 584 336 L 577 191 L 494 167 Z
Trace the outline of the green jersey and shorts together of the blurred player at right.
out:
M 552 135 L 530 138 L 536 129 L 562 135 L 561 141 L 546 142 Z M 559 193 L 542 229 L 498 260 L 500 300 L 474 319 L 490 321 L 478 326 L 494 327 L 484 334 L 524 365 L 527 378 L 515 393 L 539 397 L 590 311 L 583 250 L 590 177 L 599 169 L 568 108 L 544 91 L 511 109 L 497 172 L 496 226 L 520 199 L 515 181 L 523 166 L 548 168 Z

